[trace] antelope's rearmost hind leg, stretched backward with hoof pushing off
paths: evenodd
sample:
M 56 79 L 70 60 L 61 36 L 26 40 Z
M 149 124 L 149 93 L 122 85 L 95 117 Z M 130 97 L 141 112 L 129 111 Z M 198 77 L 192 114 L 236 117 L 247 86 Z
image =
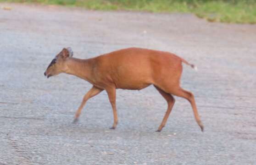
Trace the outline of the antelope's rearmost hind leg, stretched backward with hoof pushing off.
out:
M 189 91 L 184 90 L 183 88 L 178 88 L 178 90 L 173 91 L 172 94 L 174 94 L 176 96 L 179 96 L 179 97 L 182 97 L 182 98 L 185 98 L 190 102 L 190 104 L 192 106 L 192 109 L 193 109 L 193 112 L 194 112 L 195 121 L 200 126 L 201 131 L 203 132 L 204 131 L 204 126 L 203 126 L 203 124 L 200 120 L 200 117 L 199 117 L 199 114 L 198 114 L 198 111 L 197 111 L 197 108 L 196 108 L 194 94 L 189 92 Z

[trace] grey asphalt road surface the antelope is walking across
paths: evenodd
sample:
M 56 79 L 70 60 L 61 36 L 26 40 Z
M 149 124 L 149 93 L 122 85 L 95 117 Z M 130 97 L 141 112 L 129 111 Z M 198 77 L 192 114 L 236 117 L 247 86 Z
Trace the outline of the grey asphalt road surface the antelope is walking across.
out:
M 11 10 L 3 10 L 11 6 Z M 0 165 L 256 165 L 256 25 L 190 14 L 102 12 L 0 3 Z M 195 94 L 205 132 L 187 100 L 167 104 L 152 86 L 117 90 L 119 124 L 106 92 L 73 116 L 88 82 L 44 71 L 70 46 L 89 58 L 143 47 L 176 53 L 182 87 Z

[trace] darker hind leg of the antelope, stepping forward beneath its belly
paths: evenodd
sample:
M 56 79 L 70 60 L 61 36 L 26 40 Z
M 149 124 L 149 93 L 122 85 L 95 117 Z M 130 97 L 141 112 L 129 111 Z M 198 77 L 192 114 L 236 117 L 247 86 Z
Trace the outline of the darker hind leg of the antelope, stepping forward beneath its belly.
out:
M 164 92 L 163 90 L 161 90 L 160 88 L 156 87 L 154 85 L 154 87 L 158 90 L 158 92 L 163 96 L 164 99 L 166 99 L 167 101 L 167 104 L 168 104 L 168 107 L 167 107 L 167 111 L 164 115 L 164 118 L 161 122 L 161 125 L 158 127 L 157 131 L 156 132 L 161 132 L 162 128 L 165 126 L 166 122 L 167 122 L 167 119 L 173 109 L 173 105 L 175 103 L 175 99 L 173 98 L 173 96 L 169 93 L 166 93 Z

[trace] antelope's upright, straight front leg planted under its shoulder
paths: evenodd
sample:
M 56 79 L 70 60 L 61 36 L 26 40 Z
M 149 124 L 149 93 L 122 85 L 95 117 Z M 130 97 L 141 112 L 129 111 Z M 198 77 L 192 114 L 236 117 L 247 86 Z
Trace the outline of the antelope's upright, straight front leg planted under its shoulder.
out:
M 114 115 L 114 123 L 111 129 L 115 129 L 117 127 L 117 107 L 116 107 L 116 88 L 108 88 L 106 89 L 106 92 L 108 94 L 108 99 L 111 103 L 113 115 Z

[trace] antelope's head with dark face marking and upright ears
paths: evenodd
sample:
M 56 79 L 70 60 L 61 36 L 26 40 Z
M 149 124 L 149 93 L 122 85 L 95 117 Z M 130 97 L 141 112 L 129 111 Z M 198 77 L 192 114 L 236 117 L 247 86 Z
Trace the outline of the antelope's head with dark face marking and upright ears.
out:
M 61 52 L 55 56 L 55 58 L 50 62 L 50 65 L 45 71 L 45 76 L 47 78 L 51 76 L 56 76 L 67 70 L 66 60 L 72 57 L 73 51 L 71 48 L 64 48 Z

